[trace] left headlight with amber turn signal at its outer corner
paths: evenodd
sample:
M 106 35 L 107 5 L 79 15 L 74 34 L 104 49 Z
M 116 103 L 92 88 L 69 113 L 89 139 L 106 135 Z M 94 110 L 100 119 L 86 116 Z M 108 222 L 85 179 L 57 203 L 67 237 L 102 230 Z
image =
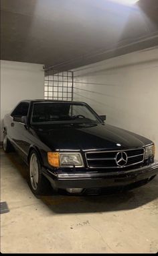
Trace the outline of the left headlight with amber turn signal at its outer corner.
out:
M 48 162 L 54 167 L 84 166 L 84 162 L 80 153 L 48 152 Z

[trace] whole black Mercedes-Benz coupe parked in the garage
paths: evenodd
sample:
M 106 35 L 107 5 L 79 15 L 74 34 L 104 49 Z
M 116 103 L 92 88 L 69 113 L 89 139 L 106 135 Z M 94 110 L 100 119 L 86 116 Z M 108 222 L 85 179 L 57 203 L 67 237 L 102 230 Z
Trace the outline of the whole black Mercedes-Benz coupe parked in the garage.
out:
M 23 100 L 5 116 L 3 148 L 29 165 L 35 194 L 132 189 L 155 177 L 153 141 L 104 123 L 84 102 Z

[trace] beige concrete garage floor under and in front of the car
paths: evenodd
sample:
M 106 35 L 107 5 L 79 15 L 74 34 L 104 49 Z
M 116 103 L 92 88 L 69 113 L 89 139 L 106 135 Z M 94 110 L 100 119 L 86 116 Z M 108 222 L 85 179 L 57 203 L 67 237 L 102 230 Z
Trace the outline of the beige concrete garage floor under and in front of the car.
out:
M 27 166 L 1 151 L 2 253 L 156 253 L 158 177 L 125 194 L 35 197 Z

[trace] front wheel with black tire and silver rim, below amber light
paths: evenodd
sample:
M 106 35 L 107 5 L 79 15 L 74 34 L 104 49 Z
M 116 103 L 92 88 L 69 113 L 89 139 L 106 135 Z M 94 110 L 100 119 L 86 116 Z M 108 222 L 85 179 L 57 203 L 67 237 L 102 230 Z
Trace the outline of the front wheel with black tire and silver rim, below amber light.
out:
M 42 174 L 42 166 L 35 150 L 29 157 L 29 187 L 35 195 L 46 195 L 50 190 L 50 182 Z

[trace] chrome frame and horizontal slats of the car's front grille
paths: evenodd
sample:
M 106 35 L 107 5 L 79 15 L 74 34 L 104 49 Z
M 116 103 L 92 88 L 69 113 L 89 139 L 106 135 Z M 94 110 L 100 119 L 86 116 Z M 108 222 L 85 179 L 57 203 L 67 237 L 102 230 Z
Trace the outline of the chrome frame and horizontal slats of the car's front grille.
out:
M 96 159 L 96 158 L 92 158 L 92 159 L 89 159 L 87 158 L 87 154 L 99 154 L 99 153 L 107 153 L 107 152 L 126 152 L 126 151 L 129 151 L 129 150 L 107 150 L 107 151 L 95 151 L 95 152 L 86 152 L 85 153 L 85 158 L 86 158 L 86 164 L 88 166 L 88 168 L 96 168 L 96 169 L 108 169 L 108 168 L 125 168 L 125 167 L 129 167 L 129 166 L 133 166 L 135 164 L 140 164 L 141 162 L 144 162 L 145 160 L 145 148 L 133 148 L 133 149 L 130 149 L 131 151 L 133 150 L 144 150 L 144 153 L 143 154 L 140 154 L 141 156 L 143 155 L 143 160 L 141 160 L 140 162 L 135 162 L 134 164 L 128 164 L 128 165 L 125 165 L 125 166 L 110 166 L 110 167 L 107 167 L 107 166 L 89 166 L 88 165 L 88 161 L 87 160 L 92 160 L 92 159 Z M 135 156 L 139 156 L 139 155 L 135 155 Z M 135 156 L 129 156 L 128 158 L 131 158 L 131 157 L 135 157 Z M 97 160 L 102 160 L 101 158 Z M 110 160 L 116 160 L 116 158 L 110 158 Z

